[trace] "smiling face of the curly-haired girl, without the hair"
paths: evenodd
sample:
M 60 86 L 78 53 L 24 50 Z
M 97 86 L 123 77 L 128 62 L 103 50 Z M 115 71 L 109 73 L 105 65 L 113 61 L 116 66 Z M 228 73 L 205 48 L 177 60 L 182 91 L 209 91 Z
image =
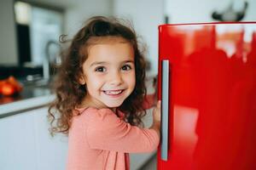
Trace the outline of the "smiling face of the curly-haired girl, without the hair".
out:
M 81 84 L 87 95 L 82 105 L 96 108 L 116 108 L 135 88 L 134 51 L 131 43 L 115 37 L 88 48 L 83 64 Z

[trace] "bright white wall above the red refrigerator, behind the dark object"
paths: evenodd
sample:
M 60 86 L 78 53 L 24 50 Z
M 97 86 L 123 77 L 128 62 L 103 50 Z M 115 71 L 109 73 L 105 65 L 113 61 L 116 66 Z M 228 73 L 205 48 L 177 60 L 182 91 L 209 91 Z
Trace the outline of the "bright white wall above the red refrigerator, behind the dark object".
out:
M 234 1 L 237 10 L 244 0 Z M 249 6 L 244 20 L 256 20 L 256 1 L 247 0 Z M 209 22 L 214 10 L 223 11 L 229 6 L 231 0 L 166 0 L 166 14 L 169 23 Z

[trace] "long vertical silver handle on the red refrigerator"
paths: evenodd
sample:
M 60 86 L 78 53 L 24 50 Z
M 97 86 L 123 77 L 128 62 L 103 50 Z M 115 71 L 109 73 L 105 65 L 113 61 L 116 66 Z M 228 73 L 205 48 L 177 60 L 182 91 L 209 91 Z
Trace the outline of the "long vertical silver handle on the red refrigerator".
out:
M 169 60 L 162 60 L 161 160 L 168 159 Z

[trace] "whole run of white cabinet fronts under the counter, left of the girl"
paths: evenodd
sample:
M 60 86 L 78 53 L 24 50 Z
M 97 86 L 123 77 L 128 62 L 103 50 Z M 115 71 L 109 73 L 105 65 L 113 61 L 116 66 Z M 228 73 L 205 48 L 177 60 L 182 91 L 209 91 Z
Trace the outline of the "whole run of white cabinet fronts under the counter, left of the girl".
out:
M 47 107 L 0 119 L 1 170 L 62 170 L 67 137 L 49 135 Z

